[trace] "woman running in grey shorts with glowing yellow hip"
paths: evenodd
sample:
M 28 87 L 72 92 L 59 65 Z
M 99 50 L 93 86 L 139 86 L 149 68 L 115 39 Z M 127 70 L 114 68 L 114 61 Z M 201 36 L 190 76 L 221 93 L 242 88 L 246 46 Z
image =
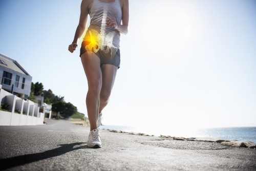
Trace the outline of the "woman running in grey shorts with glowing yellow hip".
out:
M 127 34 L 128 0 L 82 0 L 79 24 L 69 51 L 77 48 L 90 15 L 90 26 L 83 38 L 80 57 L 88 81 L 86 105 L 91 130 L 87 145 L 101 147 L 99 130 L 102 110 L 108 104 L 120 68 L 120 33 Z

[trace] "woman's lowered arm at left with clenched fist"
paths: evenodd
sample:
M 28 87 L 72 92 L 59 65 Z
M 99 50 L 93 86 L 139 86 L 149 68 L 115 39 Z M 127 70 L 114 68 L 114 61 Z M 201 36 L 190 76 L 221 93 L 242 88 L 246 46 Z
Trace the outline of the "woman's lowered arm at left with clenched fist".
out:
M 76 28 L 74 40 L 72 44 L 69 46 L 69 51 L 71 53 L 73 53 L 76 50 L 77 41 L 81 37 L 82 33 L 84 32 L 84 29 L 86 29 L 86 23 L 87 23 L 88 14 L 89 14 L 89 9 L 88 9 L 89 4 L 90 4 L 90 1 L 82 0 L 79 24 Z

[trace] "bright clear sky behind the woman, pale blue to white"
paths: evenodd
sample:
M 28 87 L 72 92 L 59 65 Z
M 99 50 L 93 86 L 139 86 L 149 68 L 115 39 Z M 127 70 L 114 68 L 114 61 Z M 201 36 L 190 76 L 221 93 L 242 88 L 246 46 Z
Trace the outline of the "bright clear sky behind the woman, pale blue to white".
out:
M 80 3 L 0 0 L 0 53 L 87 115 L 80 45 L 68 51 Z M 253 0 L 130 0 L 103 123 L 256 126 L 255 9 Z

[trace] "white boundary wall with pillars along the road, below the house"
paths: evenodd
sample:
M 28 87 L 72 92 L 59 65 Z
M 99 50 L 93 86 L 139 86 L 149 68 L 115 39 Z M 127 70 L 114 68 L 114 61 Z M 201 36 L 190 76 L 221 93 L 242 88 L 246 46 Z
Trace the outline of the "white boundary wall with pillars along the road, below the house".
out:
M 0 84 L 0 101 L 8 103 L 10 112 L 0 110 L 0 125 L 39 125 L 44 124 L 44 113 L 39 113 L 37 103 L 21 99 L 2 89 Z M 20 114 L 14 113 L 20 111 Z

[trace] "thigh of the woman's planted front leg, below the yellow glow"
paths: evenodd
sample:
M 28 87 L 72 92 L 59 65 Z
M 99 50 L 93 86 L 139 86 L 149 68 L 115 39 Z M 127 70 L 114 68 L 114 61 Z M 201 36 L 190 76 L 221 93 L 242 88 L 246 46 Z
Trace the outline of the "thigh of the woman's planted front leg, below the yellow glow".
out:
M 101 87 L 102 73 L 99 57 L 93 52 L 84 52 L 81 54 L 81 61 L 86 73 L 89 89 L 95 87 L 95 84 L 99 84 Z

